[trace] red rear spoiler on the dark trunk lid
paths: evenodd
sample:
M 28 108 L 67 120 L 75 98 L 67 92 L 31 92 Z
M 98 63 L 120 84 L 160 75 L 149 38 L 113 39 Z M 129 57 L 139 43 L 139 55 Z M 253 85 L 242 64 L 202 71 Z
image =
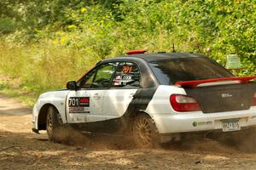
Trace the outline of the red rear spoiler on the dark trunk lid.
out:
M 179 85 L 183 88 L 197 88 L 199 85 L 204 86 L 214 86 L 221 84 L 230 84 L 230 83 L 247 83 L 250 80 L 256 79 L 255 77 L 224 77 L 224 78 L 212 78 L 207 80 L 194 80 L 186 82 L 176 82 L 175 85 Z

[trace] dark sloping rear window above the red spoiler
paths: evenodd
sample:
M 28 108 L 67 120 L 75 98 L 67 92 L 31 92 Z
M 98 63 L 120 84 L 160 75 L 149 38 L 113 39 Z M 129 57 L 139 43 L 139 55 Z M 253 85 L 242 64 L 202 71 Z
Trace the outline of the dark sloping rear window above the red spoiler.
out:
M 208 58 L 178 58 L 152 61 L 149 63 L 155 76 L 163 85 L 175 82 L 233 77 L 233 75 Z

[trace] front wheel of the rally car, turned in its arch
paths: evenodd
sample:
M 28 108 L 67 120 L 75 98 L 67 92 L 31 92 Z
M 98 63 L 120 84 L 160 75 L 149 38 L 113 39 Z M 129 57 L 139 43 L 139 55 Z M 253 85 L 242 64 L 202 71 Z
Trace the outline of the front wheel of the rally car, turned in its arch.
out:
M 59 135 L 61 130 L 64 129 L 59 112 L 55 109 L 55 107 L 50 106 L 46 116 L 46 131 L 48 134 L 48 139 L 55 142 L 61 142 Z

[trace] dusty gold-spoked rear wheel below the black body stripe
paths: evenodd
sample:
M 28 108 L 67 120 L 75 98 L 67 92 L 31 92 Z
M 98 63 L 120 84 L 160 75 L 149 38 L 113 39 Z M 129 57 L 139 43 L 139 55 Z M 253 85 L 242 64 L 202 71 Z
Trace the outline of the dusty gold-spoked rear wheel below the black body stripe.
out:
M 160 146 L 160 136 L 152 118 L 146 114 L 135 117 L 132 126 L 132 138 L 139 148 Z

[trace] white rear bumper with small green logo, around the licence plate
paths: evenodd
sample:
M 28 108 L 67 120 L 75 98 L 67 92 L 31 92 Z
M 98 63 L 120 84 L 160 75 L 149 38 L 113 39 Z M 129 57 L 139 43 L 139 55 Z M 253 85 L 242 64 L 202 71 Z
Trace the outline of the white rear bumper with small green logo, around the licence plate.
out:
M 222 122 L 227 119 L 238 119 L 241 129 L 256 125 L 256 107 L 246 111 L 226 111 L 204 114 L 201 111 L 190 113 L 161 114 L 153 116 L 160 134 L 188 133 L 222 130 Z

